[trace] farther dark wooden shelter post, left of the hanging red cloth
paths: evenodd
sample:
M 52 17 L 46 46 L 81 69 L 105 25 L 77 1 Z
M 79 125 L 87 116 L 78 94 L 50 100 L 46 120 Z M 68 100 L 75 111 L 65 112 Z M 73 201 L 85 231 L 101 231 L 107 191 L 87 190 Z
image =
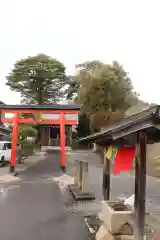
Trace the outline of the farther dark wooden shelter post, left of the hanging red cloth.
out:
M 106 159 L 106 150 L 103 162 L 103 197 L 105 201 L 110 199 L 110 160 Z

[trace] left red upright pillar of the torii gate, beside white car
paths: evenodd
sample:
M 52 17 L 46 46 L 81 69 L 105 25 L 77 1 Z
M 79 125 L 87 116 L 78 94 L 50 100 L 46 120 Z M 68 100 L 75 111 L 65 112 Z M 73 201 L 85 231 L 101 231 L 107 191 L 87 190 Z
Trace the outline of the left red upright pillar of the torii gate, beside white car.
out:
M 13 119 L 12 127 L 12 150 L 11 150 L 11 161 L 10 161 L 10 172 L 15 172 L 16 167 L 16 148 L 17 148 L 17 138 L 18 138 L 18 113 L 15 114 Z

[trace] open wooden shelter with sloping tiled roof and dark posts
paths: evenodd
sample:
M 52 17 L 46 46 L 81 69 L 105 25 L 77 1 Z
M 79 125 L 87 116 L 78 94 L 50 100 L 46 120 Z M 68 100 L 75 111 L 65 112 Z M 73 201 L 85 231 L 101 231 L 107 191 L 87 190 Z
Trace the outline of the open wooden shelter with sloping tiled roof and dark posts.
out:
M 154 106 L 140 113 L 109 125 L 103 131 L 80 139 L 81 143 L 94 142 L 104 148 L 110 144 L 135 145 L 135 239 L 143 239 L 145 223 L 145 190 L 146 190 L 146 152 L 147 144 L 160 141 L 160 106 Z M 107 161 L 109 163 L 109 161 Z M 110 167 L 106 164 L 103 187 L 109 200 Z

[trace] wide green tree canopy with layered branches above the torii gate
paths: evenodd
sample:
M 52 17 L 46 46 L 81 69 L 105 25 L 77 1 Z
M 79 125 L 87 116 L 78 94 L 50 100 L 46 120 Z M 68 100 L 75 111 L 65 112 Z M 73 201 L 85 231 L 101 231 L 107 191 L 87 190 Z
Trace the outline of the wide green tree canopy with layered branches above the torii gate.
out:
M 58 60 L 39 54 L 16 62 L 6 79 L 11 90 L 21 93 L 22 102 L 54 103 L 65 85 L 65 67 Z

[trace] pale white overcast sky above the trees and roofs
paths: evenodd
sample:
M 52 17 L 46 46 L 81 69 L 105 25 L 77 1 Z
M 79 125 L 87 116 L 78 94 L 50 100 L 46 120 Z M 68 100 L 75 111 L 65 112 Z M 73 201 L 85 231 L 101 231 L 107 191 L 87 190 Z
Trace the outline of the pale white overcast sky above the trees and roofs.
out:
M 5 86 L 14 63 L 38 53 L 68 74 L 88 60 L 118 61 L 144 101 L 160 104 L 158 0 L 1 0 L 0 100 L 18 104 Z

